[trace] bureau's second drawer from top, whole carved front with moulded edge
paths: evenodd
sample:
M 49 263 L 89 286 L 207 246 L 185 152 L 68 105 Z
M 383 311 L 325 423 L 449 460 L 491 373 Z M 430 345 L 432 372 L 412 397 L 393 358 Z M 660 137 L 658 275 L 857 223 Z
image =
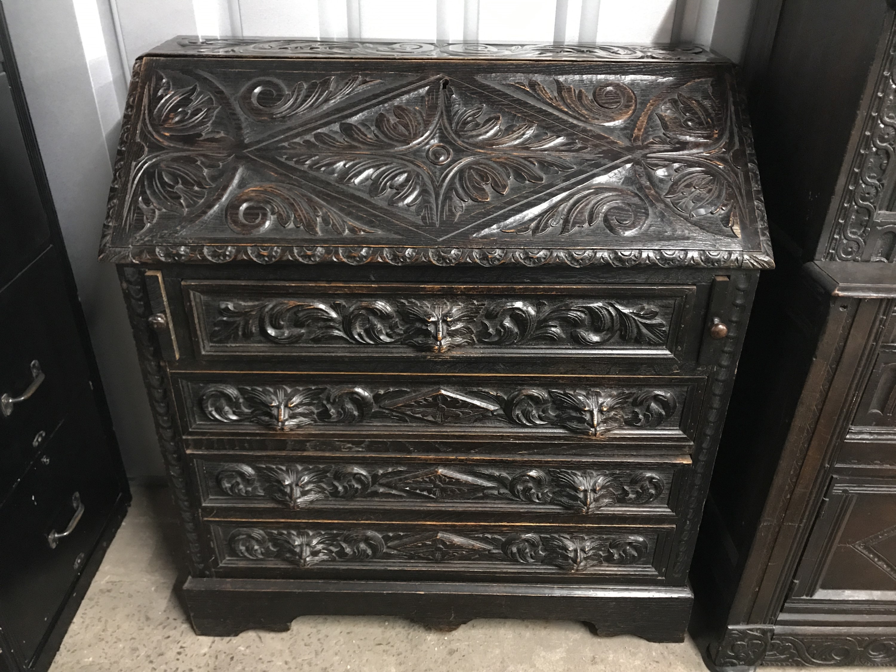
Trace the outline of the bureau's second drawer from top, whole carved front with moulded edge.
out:
M 690 442 L 704 379 L 173 375 L 188 435 Z

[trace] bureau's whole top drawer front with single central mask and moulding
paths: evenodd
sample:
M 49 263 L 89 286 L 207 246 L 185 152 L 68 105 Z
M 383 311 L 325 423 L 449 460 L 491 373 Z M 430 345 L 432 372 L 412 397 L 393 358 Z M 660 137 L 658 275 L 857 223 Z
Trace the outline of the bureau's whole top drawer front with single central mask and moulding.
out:
M 688 286 L 184 286 L 203 355 L 538 350 L 670 356 L 695 292 Z

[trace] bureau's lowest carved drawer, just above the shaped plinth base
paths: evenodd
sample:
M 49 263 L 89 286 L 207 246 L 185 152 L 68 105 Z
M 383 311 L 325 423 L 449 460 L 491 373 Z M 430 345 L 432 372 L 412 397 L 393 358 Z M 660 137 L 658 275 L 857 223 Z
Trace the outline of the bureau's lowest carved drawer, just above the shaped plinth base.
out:
M 674 525 L 207 521 L 219 576 L 582 582 L 662 577 Z M 400 573 L 401 577 L 396 577 Z

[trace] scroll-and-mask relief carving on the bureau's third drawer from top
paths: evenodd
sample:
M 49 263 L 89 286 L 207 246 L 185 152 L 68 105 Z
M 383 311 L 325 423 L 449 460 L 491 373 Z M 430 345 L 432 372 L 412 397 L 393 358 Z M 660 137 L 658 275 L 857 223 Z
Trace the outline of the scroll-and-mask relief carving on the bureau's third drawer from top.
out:
M 497 470 L 313 464 L 225 464 L 215 482 L 232 497 L 265 497 L 291 509 L 322 499 L 517 502 L 593 514 L 655 502 L 666 484 L 650 471 Z

